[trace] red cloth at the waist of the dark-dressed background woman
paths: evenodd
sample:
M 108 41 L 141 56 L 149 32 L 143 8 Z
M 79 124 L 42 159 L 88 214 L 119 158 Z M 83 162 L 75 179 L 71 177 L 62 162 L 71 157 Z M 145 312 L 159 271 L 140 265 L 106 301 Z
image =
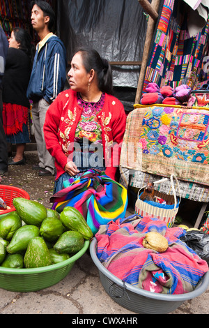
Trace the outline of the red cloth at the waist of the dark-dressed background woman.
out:
M 6 135 L 22 132 L 23 124 L 27 124 L 29 109 L 22 105 L 3 103 L 3 129 Z

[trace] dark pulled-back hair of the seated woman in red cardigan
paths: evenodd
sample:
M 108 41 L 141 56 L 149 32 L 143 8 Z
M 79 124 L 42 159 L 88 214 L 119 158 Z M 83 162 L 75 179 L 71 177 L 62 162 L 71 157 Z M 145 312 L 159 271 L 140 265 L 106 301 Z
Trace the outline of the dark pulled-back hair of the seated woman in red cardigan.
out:
M 79 47 L 76 52 L 82 53 L 82 59 L 86 72 L 93 68 L 98 77 L 98 87 L 100 91 L 113 94 L 111 66 L 107 59 L 100 57 L 100 54 L 89 47 Z

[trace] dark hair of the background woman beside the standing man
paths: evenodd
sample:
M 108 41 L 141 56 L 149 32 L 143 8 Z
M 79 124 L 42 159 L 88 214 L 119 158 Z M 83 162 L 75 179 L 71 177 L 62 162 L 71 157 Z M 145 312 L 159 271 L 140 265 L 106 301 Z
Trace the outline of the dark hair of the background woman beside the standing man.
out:
M 36 52 L 36 47 L 32 44 L 30 34 L 21 27 L 15 27 L 15 29 L 13 29 L 13 33 L 15 36 L 15 40 L 20 43 L 20 49 L 29 56 L 32 65 L 34 54 Z

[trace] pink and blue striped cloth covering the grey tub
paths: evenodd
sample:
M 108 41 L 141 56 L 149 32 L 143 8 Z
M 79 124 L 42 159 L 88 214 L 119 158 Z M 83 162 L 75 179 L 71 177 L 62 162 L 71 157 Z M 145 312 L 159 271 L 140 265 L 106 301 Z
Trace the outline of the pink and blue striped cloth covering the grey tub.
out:
M 163 253 L 143 246 L 148 232 L 158 232 L 168 241 Z M 137 214 L 101 225 L 97 256 L 111 274 L 149 292 L 169 295 L 192 292 L 208 264 L 180 240 L 183 228 L 167 228 L 165 221 Z

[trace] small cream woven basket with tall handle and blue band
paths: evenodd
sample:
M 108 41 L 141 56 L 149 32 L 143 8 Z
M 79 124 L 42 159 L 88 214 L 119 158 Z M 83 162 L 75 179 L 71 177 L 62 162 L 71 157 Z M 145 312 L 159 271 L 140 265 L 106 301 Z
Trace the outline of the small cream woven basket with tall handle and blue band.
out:
M 180 187 L 178 184 L 178 180 L 176 177 L 171 174 L 170 181 L 171 181 L 171 188 L 173 191 L 173 195 L 167 195 L 165 193 L 160 193 L 159 191 L 155 191 L 155 198 L 162 199 L 166 204 L 161 204 L 160 202 L 148 201 L 148 200 L 140 200 L 141 196 L 141 189 L 139 189 L 137 202 L 135 203 L 135 213 L 143 218 L 146 215 L 150 215 L 152 218 L 158 218 L 159 220 L 166 221 L 167 227 L 171 228 L 174 221 L 176 214 L 178 212 L 180 199 L 178 200 L 176 197 L 176 190 L 173 184 L 173 178 L 176 180 L 176 184 L 178 186 L 178 192 L 180 195 Z M 167 178 L 158 180 L 154 182 L 154 185 L 157 183 L 161 183 L 162 181 L 167 180 Z M 140 193 L 140 194 L 139 194 Z

